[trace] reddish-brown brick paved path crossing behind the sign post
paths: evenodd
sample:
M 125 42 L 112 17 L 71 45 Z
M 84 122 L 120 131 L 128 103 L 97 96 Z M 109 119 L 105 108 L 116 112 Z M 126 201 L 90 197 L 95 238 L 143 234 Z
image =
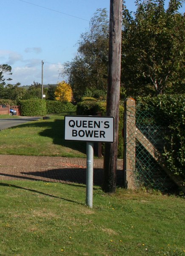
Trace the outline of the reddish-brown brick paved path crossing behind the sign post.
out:
M 94 185 L 102 184 L 103 159 L 94 159 Z M 122 186 L 122 160 L 117 162 L 117 185 Z M 83 183 L 86 158 L 0 155 L 0 180 L 43 180 Z

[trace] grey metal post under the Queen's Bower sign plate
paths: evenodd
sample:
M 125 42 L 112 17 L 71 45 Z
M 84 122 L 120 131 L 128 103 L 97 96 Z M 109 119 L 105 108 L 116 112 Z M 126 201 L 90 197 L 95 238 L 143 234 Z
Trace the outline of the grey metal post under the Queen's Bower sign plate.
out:
M 86 205 L 93 206 L 93 143 L 87 142 Z

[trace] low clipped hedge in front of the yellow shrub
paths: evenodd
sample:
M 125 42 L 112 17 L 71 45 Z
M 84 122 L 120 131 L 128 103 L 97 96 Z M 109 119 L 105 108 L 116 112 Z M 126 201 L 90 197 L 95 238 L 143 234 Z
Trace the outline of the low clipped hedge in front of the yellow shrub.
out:
M 74 106 L 71 102 L 60 102 L 60 101 L 53 101 L 47 100 L 47 113 L 65 113 L 65 112 L 75 112 L 77 107 Z

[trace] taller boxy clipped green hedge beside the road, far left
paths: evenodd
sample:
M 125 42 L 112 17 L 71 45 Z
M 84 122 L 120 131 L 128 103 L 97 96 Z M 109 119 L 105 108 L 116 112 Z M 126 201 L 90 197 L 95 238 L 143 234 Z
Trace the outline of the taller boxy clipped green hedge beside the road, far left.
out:
M 46 100 L 27 99 L 20 101 L 22 116 L 44 116 L 46 115 Z

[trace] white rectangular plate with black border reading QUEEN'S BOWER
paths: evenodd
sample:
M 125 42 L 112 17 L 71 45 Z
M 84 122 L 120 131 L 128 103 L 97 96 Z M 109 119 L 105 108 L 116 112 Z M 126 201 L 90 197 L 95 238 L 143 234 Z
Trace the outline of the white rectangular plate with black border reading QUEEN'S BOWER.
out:
M 65 116 L 65 140 L 114 142 L 114 117 Z

